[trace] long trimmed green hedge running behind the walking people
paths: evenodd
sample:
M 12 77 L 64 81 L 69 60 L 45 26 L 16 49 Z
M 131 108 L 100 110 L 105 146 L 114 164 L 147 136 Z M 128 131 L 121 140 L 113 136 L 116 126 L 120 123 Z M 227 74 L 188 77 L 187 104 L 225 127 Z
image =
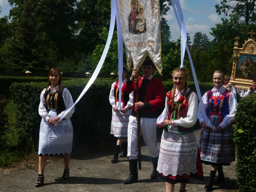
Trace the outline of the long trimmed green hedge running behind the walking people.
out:
M 88 82 L 88 78 L 77 78 L 63 81 L 75 102 Z M 109 104 L 109 92 L 111 84 L 116 79 L 97 78 L 87 93 L 75 106 L 75 113 L 72 115 L 75 142 L 81 144 L 92 144 L 110 139 L 110 126 L 112 108 Z M 188 83 L 193 90 L 194 82 Z M 38 133 L 41 117 L 38 114 L 40 93 L 47 86 L 46 82 L 13 83 L 10 87 L 14 102 L 17 104 L 17 124 L 22 131 L 23 139 L 26 142 L 33 138 L 38 141 Z M 165 92 L 173 87 L 172 81 L 163 82 Z M 213 87 L 212 83 L 200 84 L 202 95 Z M 158 110 L 158 114 L 163 111 Z

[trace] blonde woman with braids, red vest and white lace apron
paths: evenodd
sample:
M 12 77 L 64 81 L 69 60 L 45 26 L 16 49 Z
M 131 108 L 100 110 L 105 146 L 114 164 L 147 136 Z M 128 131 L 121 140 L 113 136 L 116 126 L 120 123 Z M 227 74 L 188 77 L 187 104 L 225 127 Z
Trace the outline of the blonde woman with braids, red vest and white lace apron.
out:
M 166 93 L 165 109 L 157 119 L 164 127 L 157 173 L 165 181 L 166 192 L 186 191 L 189 178 L 203 181 L 203 168 L 193 126 L 197 121 L 197 95 L 187 87 L 188 73 L 184 68 L 173 71 L 174 87 Z

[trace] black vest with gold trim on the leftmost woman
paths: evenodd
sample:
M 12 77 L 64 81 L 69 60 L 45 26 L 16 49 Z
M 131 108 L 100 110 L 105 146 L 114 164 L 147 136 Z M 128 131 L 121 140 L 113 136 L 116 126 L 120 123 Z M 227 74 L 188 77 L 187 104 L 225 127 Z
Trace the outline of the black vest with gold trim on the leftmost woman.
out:
M 49 113 L 50 109 L 56 109 L 57 115 L 66 109 L 65 103 L 62 97 L 62 93 L 56 91 L 54 93 L 46 90 L 44 93 L 44 99 L 46 103 L 46 110 Z

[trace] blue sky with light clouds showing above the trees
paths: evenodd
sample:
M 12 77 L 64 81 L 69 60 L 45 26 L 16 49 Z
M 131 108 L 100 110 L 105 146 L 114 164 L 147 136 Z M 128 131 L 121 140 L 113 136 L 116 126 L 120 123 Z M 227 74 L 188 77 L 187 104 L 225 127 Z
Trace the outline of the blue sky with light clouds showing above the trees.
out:
M 213 37 L 209 34 L 211 27 L 221 23 L 222 16 L 218 15 L 215 9 L 215 5 L 220 4 L 220 0 L 180 0 L 180 4 L 191 42 L 193 43 L 193 36 L 196 32 L 205 33 L 212 40 Z M 8 0 L 0 0 L 0 6 L 0 17 L 8 15 L 11 9 Z M 180 36 L 180 29 L 172 7 L 165 18 L 170 26 L 171 40 L 177 41 Z

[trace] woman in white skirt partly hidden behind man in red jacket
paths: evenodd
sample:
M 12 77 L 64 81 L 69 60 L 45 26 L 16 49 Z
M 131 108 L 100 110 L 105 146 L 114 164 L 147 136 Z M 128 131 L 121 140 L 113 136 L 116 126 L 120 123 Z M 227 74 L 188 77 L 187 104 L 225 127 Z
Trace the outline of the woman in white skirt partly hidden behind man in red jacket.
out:
M 123 75 L 122 75 L 122 87 L 126 82 L 127 69 L 123 67 Z M 121 99 L 121 108 L 119 111 L 117 109 L 119 102 L 119 81 L 116 81 L 112 84 L 110 94 L 109 94 L 109 102 L 112 105 L 112 122 L 111 122 L 111 134 L 117 137 L 117 145 L 114 156 L 111 159 L 111 162 L 116 163 L 118 160 L 118 154 L 120 151 L 121 145 L 123 145 L 124 152 L 119 157 L 127 157 L 127 127 L 129 123 L 129 116 L 132 112 L 133 106 L 133 94 L 123 94 Z

